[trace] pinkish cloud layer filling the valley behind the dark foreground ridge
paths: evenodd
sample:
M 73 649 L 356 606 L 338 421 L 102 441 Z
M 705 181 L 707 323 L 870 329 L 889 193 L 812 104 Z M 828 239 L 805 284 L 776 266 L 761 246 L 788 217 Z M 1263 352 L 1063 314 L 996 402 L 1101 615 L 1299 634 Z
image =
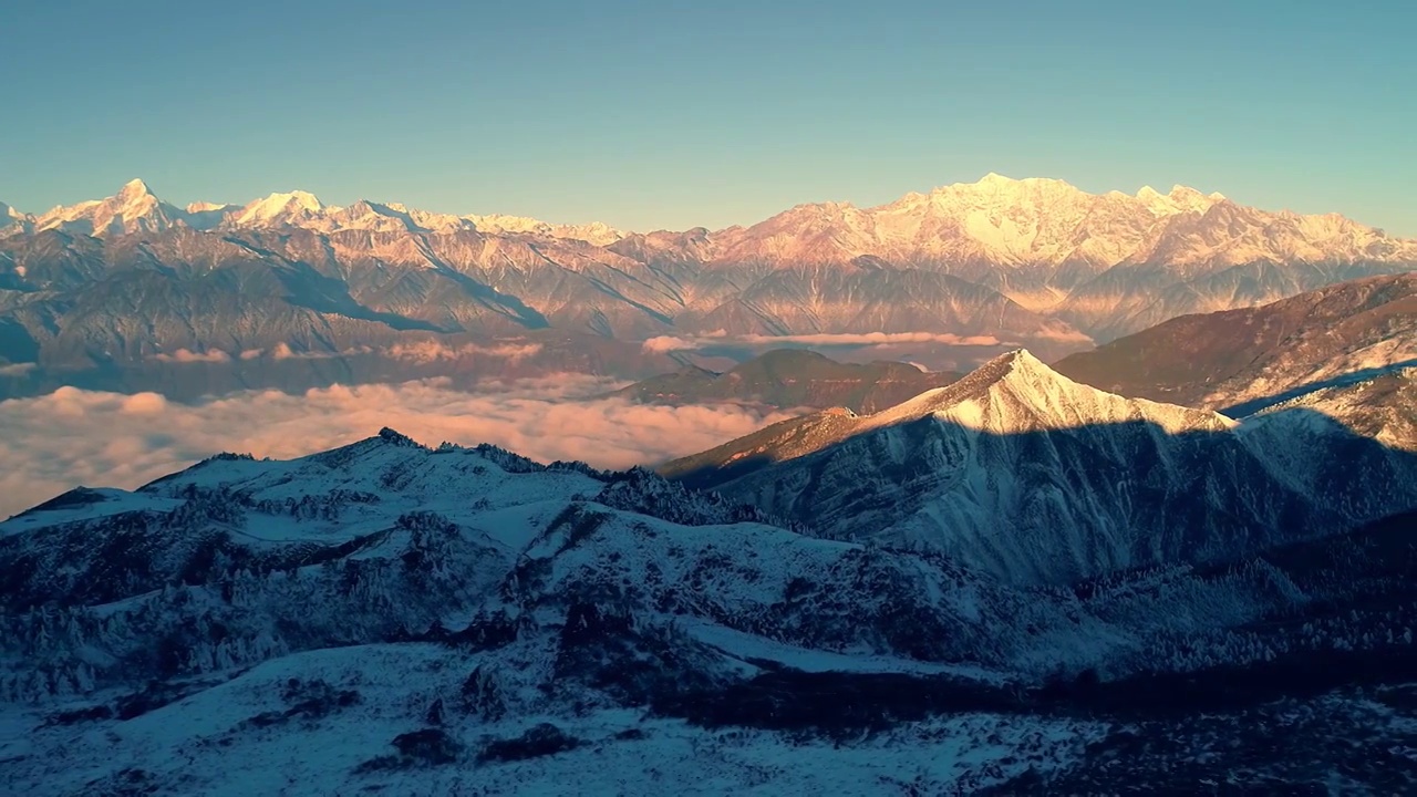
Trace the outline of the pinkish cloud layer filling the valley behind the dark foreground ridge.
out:
M 247 391 L 188 406 L 156 393 L 61 387 L 0 401 L 0 519 L 77 485 L 135 488 L 220 451 L 289 458 L 393 427 L 419 442 L 493 442 L 533 459 L 628 468 L 693 454 L 789 417 L 733 406 L 655 407 L 588 398 L 584 376 L 469 394 L 445 380 Z

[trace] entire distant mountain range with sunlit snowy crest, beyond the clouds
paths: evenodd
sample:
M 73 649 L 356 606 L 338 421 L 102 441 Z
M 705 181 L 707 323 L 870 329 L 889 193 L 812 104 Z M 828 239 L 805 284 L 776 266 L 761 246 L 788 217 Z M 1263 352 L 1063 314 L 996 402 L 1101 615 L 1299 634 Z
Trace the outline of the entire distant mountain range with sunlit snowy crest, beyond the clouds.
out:
M 1335 214 L 996 174 L 679 233 L 333 207 L 303 191 L 177 207 L 135 180 L 105 200 L 0 213 L 0 394 L 397 379 L 417 373 L 395 353 L 410 346 L 462 349 L 442 360 L 466 373 L 580 362 L 636 379 L 673 364 L 655 356 L 741 359 L 774 339 L 961 370 L 1414 265 L 1417 243 Z

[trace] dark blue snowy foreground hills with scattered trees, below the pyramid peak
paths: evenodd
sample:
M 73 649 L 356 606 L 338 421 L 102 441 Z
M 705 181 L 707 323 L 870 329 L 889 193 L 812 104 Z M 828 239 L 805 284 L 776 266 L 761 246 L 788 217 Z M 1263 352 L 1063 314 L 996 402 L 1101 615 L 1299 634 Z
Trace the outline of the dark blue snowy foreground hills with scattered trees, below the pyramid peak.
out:
M 0 523 L 0 783 L 1017 794 L 1342 769 L 1401 791 L 1413 522 L 1027 587 L 642 469 L 391 430 L 220 455 Z M 1275 723 L 1291 745 L 1244 760 L 1217 737 Z

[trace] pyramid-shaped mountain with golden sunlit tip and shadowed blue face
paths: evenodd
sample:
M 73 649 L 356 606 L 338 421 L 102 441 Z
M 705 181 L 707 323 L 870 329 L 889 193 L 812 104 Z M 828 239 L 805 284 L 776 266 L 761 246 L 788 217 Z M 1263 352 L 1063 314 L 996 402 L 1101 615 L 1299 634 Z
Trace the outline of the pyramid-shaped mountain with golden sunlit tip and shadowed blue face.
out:
M 1019 583 L 1227 560 L 1417 506 L 1417 459 L 1311 410 L 1246 424 L 1074 383 L 1027 352 L 873 416 L 782 421 L 660 472 Z

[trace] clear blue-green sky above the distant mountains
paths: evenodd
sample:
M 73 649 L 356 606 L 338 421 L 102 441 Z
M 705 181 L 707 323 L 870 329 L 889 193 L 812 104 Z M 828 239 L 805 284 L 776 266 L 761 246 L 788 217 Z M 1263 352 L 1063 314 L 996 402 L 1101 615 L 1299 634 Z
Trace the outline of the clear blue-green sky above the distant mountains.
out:
M 1414 28 L 1411 0 L 4 0 L 0 200 L 143 177 L 649 230 L 998 172 L 1417 237 Z

